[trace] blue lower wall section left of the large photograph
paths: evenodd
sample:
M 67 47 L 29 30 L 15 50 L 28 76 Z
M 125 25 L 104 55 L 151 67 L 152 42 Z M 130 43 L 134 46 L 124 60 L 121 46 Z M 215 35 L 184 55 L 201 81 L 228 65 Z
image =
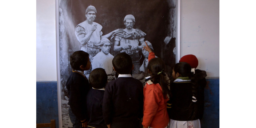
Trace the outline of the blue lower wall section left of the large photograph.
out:
M 50 123 L 55 119 L 59 128 L 56 82 L 37 82 L 37 123 Z

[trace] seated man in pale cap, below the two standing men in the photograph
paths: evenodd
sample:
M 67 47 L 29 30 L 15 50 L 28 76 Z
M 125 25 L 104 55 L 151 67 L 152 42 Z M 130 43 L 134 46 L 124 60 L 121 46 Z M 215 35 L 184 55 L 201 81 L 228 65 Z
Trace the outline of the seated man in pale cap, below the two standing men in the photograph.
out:
M 115 71 L 113 70 L 112 56 L 109 51 L 111 49 L 111 43 L 107 38 L 102 38 L 99 44 L 100 52 L 92 58 L 92 70 L 98 67 L 105 69 L 108 80 L 115 79 Z

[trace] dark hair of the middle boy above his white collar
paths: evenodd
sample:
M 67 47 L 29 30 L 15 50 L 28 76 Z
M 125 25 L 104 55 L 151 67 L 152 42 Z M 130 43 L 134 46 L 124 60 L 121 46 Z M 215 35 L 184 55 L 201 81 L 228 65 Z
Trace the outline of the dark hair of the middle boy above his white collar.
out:
M 126 53 L 117 54 L 112 60 L 115 71 L 119 74 L 130 74 L 132 70 L 132 59 Z

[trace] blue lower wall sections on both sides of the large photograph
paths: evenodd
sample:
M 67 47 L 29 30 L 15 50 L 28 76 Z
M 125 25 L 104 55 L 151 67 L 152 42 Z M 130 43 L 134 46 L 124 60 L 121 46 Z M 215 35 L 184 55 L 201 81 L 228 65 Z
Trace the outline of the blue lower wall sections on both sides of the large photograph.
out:
M 219 79 L 206 79 L 201 128 L 219 128 Z M 57 82 L 37 82 L 37 123 L 56 120 L 59 128 Z

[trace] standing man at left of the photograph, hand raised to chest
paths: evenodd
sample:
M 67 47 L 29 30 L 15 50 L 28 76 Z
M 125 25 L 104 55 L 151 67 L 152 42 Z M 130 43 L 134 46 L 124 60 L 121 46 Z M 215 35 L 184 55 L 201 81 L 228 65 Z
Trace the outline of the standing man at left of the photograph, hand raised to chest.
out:
M 89 54 L 90 61 L 99 52 L 99 43 L 101 38 L 109 38 L 119 29 L 110 32 L 107 35 L 102 36 L 102 26 L 95 20 L 97 10 L 94 6 L 88 6 L 85 11 L 86 20 L 78 24 L 75 28 L 75 36 L 80 42 L 80 50 Z M 85 75 L 91 72 L 91 69 L 85 71 Z

